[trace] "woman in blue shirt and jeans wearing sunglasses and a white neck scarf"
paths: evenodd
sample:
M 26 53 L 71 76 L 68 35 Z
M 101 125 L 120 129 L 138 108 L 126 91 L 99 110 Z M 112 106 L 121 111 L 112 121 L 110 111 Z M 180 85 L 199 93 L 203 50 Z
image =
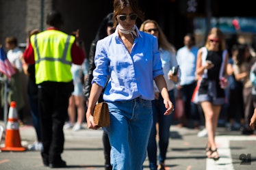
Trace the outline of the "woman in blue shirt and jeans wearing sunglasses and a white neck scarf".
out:
M 153 123 L 154 80 L 164 98 L 163 114 L 172 113 L 174 106 L 168 96 L 157 38 L 136 27 L 136 19 L 143 18 L 138 1 L 114 0 L 113 18 L 116 31 L 97 42 L 87 126 L 98 128 L 92 112 L 107 83 L 103 100 L 110 109 L 110 126 L 103 129 L 110 139 L 112 167 L 139 170 L 143 169 Z

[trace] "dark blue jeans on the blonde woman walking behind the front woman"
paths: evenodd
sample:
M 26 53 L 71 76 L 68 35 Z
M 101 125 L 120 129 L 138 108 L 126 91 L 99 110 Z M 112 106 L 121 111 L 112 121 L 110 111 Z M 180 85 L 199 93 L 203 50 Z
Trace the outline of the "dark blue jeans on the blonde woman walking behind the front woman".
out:
M 168 91 L 170 100 L 172 104 L 175 105 L 175 96 L 174 91 Z M 172 115 L 164 115 L 166 111 L 166 107 L 164 106 L 164 100 L 160 94 L 158 100 L 152 101 L 152 108 L 153 108 L 153 126 L 151 129 L 151 134 L 149 137 L 149 144 L 147 147 L 148 157 L 149 157 L 149 168 L 151 170 L 157 169 L 157 141 L 155 139 L 157 135 L 156 130 L 156 122 L 159 125 L 159 156 L 158 160 L 159 163 L 164 162 L 166 160 L 166 152 L 169 144 L 169 137 L 170 137 L 170 125 L 172 123 Z

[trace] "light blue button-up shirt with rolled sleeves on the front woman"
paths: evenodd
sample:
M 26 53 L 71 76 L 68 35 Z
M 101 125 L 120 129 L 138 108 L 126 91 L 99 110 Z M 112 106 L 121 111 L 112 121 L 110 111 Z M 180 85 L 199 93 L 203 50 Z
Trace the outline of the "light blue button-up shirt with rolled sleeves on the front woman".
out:
M 138 29 L 137 29 L 138 31 Z M 157 50 L 157 38 L 140 31 L 131 53 L 118 36 L 118 30 L 97 42 L 92 83 L 105 87 L 105 101 L 123 101 L 133 98 L 154 99 L 153 79 L 162 70 Z M 107 76 L 110 80 L 107 82 Z

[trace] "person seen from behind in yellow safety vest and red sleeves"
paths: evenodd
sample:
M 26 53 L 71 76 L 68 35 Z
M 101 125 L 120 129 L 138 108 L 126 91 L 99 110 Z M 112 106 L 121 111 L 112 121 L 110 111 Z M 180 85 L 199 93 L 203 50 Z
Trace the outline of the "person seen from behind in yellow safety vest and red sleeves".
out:
M 41 151 L 44 166 L 66 167 L 63 126 L 68 117 L 68 98 L 74 89 L 71 63 L 81 65 L 86 55 L 75 36 L 60 31 L 63 24 L 59 12 L 47 14 L 46 31 L 31 36 L 24 52 L 26 63 L 35 63 L 36 84 L 42 131 Z

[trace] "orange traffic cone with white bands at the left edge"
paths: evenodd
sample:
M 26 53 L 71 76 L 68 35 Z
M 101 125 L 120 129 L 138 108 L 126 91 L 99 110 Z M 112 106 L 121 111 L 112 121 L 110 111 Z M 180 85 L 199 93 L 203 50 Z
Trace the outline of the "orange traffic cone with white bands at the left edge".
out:
M 20 132 L 18 131 L 18 114 L 16 102 L 12 101 L 8 113 L 8 122 L 5 130 L 5 147 L 1 151 L 25 151 L 21 146 Z

